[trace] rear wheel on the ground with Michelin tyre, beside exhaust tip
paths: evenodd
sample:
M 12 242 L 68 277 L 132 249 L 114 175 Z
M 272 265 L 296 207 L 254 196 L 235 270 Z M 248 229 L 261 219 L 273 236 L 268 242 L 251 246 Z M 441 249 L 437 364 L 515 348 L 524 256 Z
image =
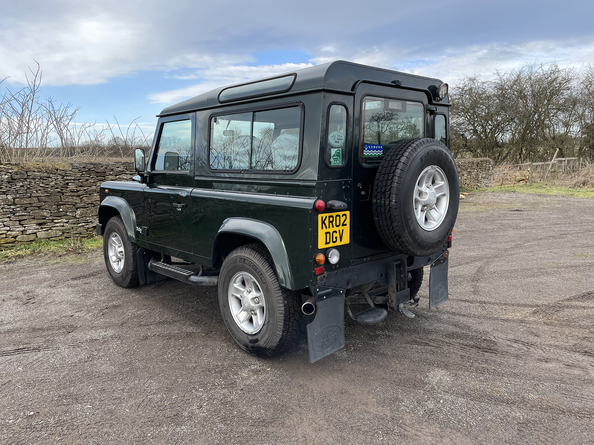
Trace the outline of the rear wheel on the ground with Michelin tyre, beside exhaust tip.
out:
M 219 306 L 223 322 L 239 347 L 270 357 L 298 340 L 299 294 L 279 285 L 266 249 L 238 247 L 219 274 Z

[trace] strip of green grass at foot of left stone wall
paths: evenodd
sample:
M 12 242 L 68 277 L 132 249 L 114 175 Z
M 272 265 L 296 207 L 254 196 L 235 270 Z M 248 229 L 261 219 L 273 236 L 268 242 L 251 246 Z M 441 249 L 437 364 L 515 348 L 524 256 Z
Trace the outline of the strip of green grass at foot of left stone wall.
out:
M 0 250 L 0 260 L 11 260 L 28 255 L 79 255 L 103 246 L 103 237 L 65 238 L 58 241 L 35 240 L 25 246 L 6 247 Z

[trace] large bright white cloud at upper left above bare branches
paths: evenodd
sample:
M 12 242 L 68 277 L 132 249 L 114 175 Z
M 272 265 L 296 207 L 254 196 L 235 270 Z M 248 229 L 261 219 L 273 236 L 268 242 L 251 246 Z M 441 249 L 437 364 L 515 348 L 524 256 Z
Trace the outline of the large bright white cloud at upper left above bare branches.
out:
M 144 27 L 108 14 L 55 23 L 20 23 L 0 31 L 0 77 L 23 83 L 34 60 L 46 85 L 97 84 L 137 68 Z

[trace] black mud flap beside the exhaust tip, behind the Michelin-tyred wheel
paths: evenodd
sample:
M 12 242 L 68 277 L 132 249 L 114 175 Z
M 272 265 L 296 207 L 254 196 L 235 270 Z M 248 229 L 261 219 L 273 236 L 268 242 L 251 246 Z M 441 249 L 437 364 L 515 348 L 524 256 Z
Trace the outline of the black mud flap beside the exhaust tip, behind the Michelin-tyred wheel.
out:
M 345 290 L 315 286 L 316 314 L 307 325 L 309 363 L 345 346 Z

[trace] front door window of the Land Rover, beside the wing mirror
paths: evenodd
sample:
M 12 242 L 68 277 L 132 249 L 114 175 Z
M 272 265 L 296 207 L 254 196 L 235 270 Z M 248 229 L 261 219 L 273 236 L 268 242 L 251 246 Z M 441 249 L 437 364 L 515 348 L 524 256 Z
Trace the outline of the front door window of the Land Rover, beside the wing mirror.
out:
M 192 121 L 165 122 L 157 142 L 154 170 L 188 170 Z

